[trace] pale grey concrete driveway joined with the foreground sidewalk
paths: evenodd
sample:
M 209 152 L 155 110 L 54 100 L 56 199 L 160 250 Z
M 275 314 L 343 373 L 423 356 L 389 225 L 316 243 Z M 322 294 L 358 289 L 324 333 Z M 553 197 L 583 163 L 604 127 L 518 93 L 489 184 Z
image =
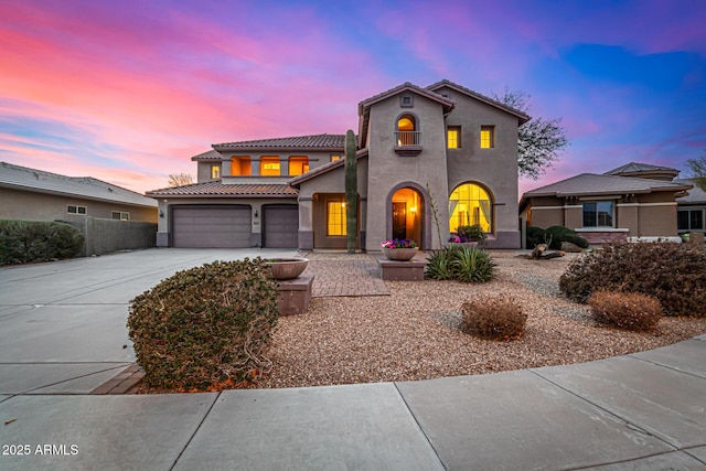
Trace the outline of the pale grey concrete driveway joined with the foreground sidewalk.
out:
M 0 269 L 0 469 L 706 470 L 706 335 L 483 376 L 87 395 L 133 362 L 131 298 L 258 253 L 292 255 L 151 249 Z

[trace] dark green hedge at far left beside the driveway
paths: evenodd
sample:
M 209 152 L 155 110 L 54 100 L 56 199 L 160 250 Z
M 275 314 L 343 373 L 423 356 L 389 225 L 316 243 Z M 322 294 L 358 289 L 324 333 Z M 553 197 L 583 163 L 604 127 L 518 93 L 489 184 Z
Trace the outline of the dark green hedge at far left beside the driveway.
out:
M 84 237 L 69 224 L 0 221 L 0 265 L 73 258 Z

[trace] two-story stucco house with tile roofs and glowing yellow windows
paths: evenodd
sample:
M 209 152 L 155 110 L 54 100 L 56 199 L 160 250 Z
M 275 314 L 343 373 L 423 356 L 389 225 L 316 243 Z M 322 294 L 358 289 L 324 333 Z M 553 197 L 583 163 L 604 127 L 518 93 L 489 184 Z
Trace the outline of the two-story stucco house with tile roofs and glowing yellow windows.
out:
M 440 247 L 480 224 L 518 248 L 517 128 L 524 113 L 449 81 L 405 83 L 357 106 L 357 247 Z M 197 183 L 153 190 L 158 246 L 345 248 L 344 135 L 216 143 Z

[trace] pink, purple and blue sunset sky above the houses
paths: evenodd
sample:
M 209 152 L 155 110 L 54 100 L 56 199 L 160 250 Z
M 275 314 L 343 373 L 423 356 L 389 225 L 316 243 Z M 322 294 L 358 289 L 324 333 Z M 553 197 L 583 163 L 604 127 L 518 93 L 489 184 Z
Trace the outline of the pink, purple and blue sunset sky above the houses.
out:
M 706 149 L 706 2 L 0 0 L 0 161 L 145 192 L 211 144 L 357 129 L 448 78 L 571 142 L 521 192 Z

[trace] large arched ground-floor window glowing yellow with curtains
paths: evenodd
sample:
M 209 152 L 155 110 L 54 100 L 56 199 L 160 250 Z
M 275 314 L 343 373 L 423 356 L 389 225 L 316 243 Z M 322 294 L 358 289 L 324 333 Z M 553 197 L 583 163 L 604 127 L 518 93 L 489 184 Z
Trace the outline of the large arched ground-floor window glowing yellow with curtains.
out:
M 459 226 L 480 224 L 489 233 L 493 227 L 493 202 L 480 185 L 463 183 L 449 196 L 449 231 L 454 233 Z

